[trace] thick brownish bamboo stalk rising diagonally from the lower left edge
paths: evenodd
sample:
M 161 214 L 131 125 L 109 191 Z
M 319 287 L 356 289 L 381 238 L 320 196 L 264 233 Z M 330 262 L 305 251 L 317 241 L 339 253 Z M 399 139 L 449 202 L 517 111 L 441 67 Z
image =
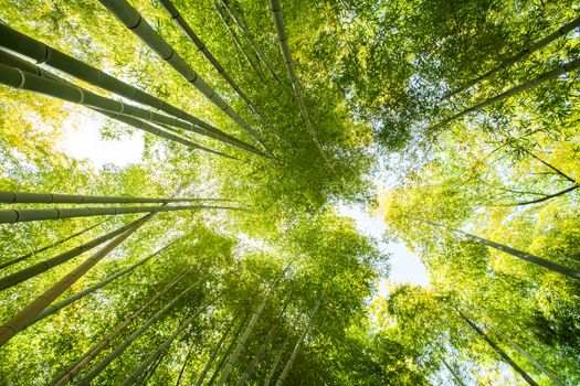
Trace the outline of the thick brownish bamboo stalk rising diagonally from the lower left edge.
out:
M 131 228 L 115 237 L 101 250 L 95 253 L 78 267 L 73 269 L 68 275 L 59 280 L 55 285 L 49 288 L 44 293 L 30 302 L 20 312 L 12 317 L 8 322 L 0 326 L 0 347 L 7 344 L 17 333 L 24 330 L 27 325 L 46 307 L 49 307 L 56 298 L 59 298 L 64 291 L 71 288 L 78 279 L 83 277 L 91 268 L 93 268 L 98 261 L 107 256 L 115 247 L 133 235 L 154 214 L 147 214 L 139 218 Z

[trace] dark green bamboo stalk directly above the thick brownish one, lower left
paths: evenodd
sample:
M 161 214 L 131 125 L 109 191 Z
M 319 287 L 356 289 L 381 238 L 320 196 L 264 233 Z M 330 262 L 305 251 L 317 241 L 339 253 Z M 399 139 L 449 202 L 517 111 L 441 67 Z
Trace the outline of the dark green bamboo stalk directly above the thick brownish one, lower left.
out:
M 52 269 L 54 267 L 60 266 L 61 264 L 64 264 L 72 258 L 75 258 L 78 255 L 84 254 L 87 250 L 91 250 L 97 246 L 99 246 L 103 243 L 106 243 L 113 237 L 116 237 L 118 235 L 122 235 L 123 233 L 130 229 L 133 226 L 135 226 L 140 219 L 136 219 L 133 223 L 123 225 L 103 236 L 96 237 L 92 239 L 91 242 L 84 243 L 77 247 L 71 248 L 62 254 L 59 254 L 54 257 L 51 257 L 49 259 L 42 260 L 35 265 L 32 265 L 30 267 L 23 268 L 14 274 L 10 274 L 4 276 L 0 279 L 0 291 L 3 291 L 8 288 L 14 287 L 23 281 L 27 281 L 40 274 L 43 274 L 48 271 L 49 269 Z

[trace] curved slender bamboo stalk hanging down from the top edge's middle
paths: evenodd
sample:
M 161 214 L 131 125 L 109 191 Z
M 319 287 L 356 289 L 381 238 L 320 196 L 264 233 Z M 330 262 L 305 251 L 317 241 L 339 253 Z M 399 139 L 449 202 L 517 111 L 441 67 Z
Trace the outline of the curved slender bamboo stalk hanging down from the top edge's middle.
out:
M 316 137 L 316 132 L 314 130 L 313 122 L 310 121 L 310 116 L 308 115 L 308 110 L 306 109 L 306 105 L 304 104 L 300 84 L 298 82 L 298 77 L 296 76 L 296 69 L 294 68 L 294 62 L 292 60 L 292 54 L 289 52 L 286 31 L 284 30 L 284 20 L 282 18 L 282 3 L 280 2 L 280 0 L 268 0 L 268 3 L 270 3 L 270 9 L 272 10 L 272 17 L 274 18 L 274 25 L 276 26 L 276 32 L 278 34 L 280 46 L 282 49 L 284 62 L 286 63 L 286 69 L 288 72 L 288 77 L 291 79 L 292 88 L 294 90 L 294 97 L 296 98 L 296 101 L 298 103 L 300 115 L 306 125 L 306 129 L 308 130 L 308 133 L 310 135 L 314 143 L 316 144 L 316 148 L 318 149 L 318 152 L 323 157 L 323 160 L 325 161 L 326 165 L 331 171 L 334 171 L 333 164 L 327 159 L 324 152 L 324 149 L 320 142 L 318 141 L 318 138 Z

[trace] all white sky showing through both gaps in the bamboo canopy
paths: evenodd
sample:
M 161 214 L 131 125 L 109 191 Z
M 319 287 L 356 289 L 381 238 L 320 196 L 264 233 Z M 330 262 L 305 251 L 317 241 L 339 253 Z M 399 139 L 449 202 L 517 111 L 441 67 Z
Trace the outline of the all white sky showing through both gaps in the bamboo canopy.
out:
M 106 140 L 101 137 L 102 120 L 86 116 L 77 116 L 77 120 L 70 119 L 64 126 L 60 148 L 71 158 L 88 160 L 95 169 L 106 163 L 126 167 L 141 160 L 144 139 L 137 131 L 130 138 Z M 390 255 L 389 281 L 392 283 L 412 283 L 428 286 L 429 279 L 425 267 L 415 254 L 411 253 L 403 243 L 384 243 L 382 234 L 386 226 L 380 214 L 369 214 L 358 206 L 339 205 L 339 213 L 355 219 L 360 234 L 379 240 L 379 249 Z M 379 285 L 379 296 L 387 293 L 386 282 Z

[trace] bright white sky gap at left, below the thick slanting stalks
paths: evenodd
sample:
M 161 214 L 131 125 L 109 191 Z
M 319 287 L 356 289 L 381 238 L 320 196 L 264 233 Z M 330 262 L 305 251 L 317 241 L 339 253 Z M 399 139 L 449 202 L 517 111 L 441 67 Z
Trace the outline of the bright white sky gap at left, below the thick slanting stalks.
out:
M 119 140 L 108 140 L 101 137 L 103 119 L 88 116 L 71 115 L 64 124 L 64 135 L 59 148 L 68 157 L 77 160 L 88 160 L 97 169 L 106 163 L 126 167 L 141 160 L 144 139 L 139 131 Z

